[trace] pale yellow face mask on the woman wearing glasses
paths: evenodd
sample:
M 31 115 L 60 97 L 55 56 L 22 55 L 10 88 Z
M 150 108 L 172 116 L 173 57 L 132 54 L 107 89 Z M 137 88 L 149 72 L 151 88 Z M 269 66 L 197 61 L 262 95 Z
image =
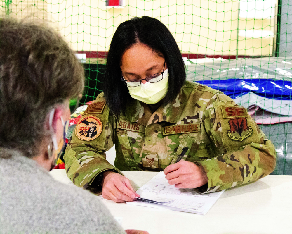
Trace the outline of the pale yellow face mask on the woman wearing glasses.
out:
M 162 74 L 161 74 L 162 75 Z M 141 85 L 136 87 L 128 87 L 129 94 L 134 99 L 142 101 L 146 104 L 154 104 L 159 102 L 161 99 L 165 97 L 165 94 L 168 90 L 168 69 L 166 69 L 163 73 L 162 80 L 150 83 L 146 82 L 145 84 L 141 83 Z

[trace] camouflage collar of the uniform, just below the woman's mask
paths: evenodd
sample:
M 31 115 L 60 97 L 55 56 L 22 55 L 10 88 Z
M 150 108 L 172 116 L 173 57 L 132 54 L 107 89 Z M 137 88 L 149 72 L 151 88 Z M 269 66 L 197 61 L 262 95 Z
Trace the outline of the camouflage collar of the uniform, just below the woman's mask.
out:
M 153 114 L 147 104 L 129 96 L 125 112 L 126 119 L 130 122 L 140 123 L 143 126 L 162 121 L 169 123 L 178 122 L 178 118 L 180 117 L 184 102 L 187 99 L 182 90 L 183 88 L 170 104 L 165 106 L 161 105 Z

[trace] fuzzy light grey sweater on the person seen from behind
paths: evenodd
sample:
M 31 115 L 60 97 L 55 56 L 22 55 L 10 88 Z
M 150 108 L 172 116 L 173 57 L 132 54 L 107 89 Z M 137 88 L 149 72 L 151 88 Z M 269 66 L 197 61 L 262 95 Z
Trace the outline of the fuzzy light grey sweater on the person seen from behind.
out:
M 0 158 L 1 234 L 125 233 L 95 195 L 18 154 Z

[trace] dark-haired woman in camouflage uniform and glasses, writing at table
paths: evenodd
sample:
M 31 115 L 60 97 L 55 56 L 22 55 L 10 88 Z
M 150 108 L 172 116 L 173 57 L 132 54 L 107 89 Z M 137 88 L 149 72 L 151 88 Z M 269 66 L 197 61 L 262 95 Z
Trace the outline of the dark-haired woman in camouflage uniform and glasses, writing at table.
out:
M 114 144 L 115 166 L 105 156 Z M 273 144 L 246 109 L 186 81 L 175 39 L 147 16 L 114 33 L 104 92 L 84 112 L 64 159 L 75 185 L 115 202 L 138 196 L 120 170 L 164 170 L 178 188 L 213 192 L 258 180 L 276 163 Z

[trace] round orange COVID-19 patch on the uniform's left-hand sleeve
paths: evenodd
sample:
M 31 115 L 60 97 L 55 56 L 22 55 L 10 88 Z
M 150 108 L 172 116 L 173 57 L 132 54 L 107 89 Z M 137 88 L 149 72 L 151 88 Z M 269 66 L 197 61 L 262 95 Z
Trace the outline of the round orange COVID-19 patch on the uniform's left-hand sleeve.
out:
M 94 140 L 102 131 L 102 122 L 95 116 L 81 118 L 75 128 L 76 136 L 84 141 Z

